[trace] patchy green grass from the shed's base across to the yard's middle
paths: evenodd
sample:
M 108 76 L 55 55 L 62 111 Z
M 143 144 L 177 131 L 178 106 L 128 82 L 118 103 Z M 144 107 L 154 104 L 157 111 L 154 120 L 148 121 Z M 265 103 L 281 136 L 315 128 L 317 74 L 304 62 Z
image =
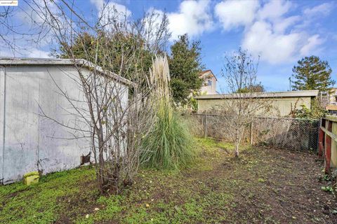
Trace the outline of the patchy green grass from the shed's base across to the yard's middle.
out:
M 218 147 L 225 146 L 204 139 L 194 139 L 193 144 L 196 151 L 210 158 L 217 158 Z M 212 169 L 204 157 L 196 161 L 198 165 L 185 169 L 191 172 Z M 64 218 L 72 223 L 199 223 L 206 222 L 202 214 L 211 209 L 209 200 L 225 203 L 231 198 L 227 193 L 191 197 L 194 179 L 185 182 L 183 179 L 178 169 L 142 169 L 132 188 L 122 195 L 100 196 L 92 167 L 56 172 L 42 176 L 32 186 L 21 182 L 0 186 L 0 223 L 53 223 L 64 222 Z M 200 183 L 198 190 L 208 194 L 204 183 Z M 161 192 L 164 197 L 157 195 Z

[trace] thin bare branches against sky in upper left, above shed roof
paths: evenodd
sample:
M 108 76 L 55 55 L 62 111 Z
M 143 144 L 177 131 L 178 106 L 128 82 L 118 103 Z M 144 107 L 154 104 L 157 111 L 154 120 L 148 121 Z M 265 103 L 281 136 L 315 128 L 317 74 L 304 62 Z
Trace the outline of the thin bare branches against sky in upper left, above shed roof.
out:
M 37 12 L 44 1 L 23 0 L 18 6 L 0 7 L 0 48 L 2 55 L 26 55 L 36 47 L 53 42 L 48 18 Z

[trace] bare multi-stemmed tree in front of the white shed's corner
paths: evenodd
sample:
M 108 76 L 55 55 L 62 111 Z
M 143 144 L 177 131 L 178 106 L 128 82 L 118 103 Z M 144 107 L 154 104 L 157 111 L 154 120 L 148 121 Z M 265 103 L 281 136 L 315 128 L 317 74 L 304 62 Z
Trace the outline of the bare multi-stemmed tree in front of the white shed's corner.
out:
M 161 15 L 158 20 L 152 12 L 134 21 L 116 8 L 103 6 L 98 20 L 88 22 L 68 1 L 32 1 L 29 7 L 48 24 L 49 35 L 62 45 L 63 56 L 72 60 L 77 74 L 67 76 L 81 92 L 74 97 L 51 76 L 70 105 L 64 111 L 74 119 L 62 123 L 43 108 L 41 116 L 67 127 L 73 139 L 87 139 L 100 192 L 119 193 L 133 183 L 141 139 L 154 120 L 153 102 L 148 100 L 152 87 L 147 54 L 143 52 L 164 50 L 169 38 L 167 18 Z M 95 37 L 90 46 L 81 35 L 84 31 Z M 75 40 L 77 48 L 72 47 Z M 79 51 L 84 60 L 77 58 Z

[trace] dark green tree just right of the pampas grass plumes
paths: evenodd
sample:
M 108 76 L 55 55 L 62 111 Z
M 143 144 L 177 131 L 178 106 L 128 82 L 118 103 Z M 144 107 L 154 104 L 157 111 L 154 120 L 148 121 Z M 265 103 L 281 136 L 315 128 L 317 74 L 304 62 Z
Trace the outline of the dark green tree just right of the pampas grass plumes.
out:
M 170 84 L 176 104 L 187 104 L 191 92 L 199 92 L 201 88 L 203 80 L 199 78 L 199 74 L 203 66 L 200 53 L 200 42 L 190 43 L 187 34 L 180 36 L 178 41 L 171 45 Z

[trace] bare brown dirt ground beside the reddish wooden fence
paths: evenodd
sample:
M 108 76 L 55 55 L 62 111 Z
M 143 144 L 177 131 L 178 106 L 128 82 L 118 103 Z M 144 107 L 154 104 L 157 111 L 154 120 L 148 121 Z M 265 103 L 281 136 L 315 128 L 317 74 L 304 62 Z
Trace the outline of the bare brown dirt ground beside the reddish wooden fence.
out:
M 337 223 L 336 199 L 321 189 L 329 182 L 315 154 L 258 148 L 245 151 L 241 163 L 225 162 L 228 170 L 216 174 L 245 183 L 237 186 L 231 223 Z

